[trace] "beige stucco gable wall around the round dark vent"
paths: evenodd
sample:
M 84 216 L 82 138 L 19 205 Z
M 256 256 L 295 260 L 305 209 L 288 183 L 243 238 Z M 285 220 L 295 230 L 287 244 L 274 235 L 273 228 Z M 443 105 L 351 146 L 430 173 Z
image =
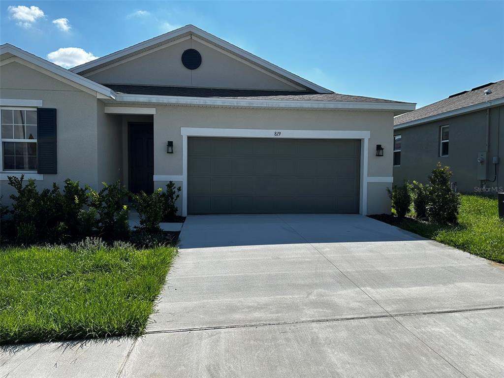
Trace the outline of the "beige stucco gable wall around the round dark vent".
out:
M 182 53 L 190 48 L 202 56 L 196 70 L 182 64 Z M 101 84 L 304 90 L 193 36 L 88 72 L 84 77 Z

